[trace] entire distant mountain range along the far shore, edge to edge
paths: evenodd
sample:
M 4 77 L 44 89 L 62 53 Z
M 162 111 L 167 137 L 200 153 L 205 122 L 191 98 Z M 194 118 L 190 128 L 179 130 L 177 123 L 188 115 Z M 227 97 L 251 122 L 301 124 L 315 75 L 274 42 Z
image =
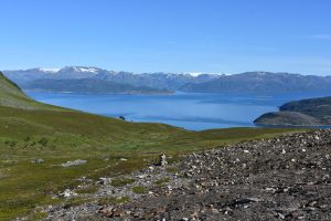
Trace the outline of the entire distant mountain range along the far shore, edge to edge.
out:
M 4 71 L 23 90 L 85 93 L 164 94 L 244 93 L 331 93 L 331 76 L 290 73 L 247 72 L 242 74 L 114 72 L 97 67 L 67 66 L 60 70 Z

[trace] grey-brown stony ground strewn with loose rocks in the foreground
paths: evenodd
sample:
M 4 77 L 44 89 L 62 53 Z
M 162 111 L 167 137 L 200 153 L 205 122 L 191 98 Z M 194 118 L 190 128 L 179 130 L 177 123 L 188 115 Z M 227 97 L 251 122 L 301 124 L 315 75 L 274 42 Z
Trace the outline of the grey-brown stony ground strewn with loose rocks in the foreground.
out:
M 325 129 L 192 154 L 116 180 L 100 178 L 97 192 L 83 196 L 90 201 L 44 211 L 46 220 L 331 220 L 330 176 L 331 130 Z

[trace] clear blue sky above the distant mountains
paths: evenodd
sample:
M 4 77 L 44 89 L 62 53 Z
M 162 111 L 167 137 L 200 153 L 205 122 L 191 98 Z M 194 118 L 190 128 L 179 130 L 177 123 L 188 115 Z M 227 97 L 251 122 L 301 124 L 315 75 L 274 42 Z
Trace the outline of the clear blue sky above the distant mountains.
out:
M 330 0 L 0 0 L 0 70 L 331 75 Z

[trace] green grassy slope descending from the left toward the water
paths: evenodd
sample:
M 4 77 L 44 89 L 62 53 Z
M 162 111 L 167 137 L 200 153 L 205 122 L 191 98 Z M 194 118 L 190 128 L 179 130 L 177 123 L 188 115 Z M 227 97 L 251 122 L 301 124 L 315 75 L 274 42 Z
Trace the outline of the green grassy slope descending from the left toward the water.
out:
M 58 202 L 52 200 L 52 193 L 76 186 L 81 176 L 116 176 L 148 164 L 160 152 L 177 157 L 289 131 L 233 128 L 194 133 L 162 124 L 126 123 L 40 104 L 1 75 L 0 85 L 0 220 Z M 32 164 L 36 158 L 45 161 Z M 88 162 L 60 166 L 75 159 Z

